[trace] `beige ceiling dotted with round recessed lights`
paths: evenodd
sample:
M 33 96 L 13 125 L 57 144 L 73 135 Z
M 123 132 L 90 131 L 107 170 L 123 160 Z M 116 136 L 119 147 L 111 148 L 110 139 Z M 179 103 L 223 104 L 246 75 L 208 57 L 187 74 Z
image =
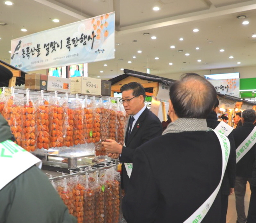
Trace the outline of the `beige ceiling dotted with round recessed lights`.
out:
M 110 79 L 122 74 L 121 68 L 140 72 L 150 68 L 150 74 L 174 79 L 174 73 L 256 65 L 256 38 L 252 38 L 256 0 L 11 1 L 13 5 L 8 6 L 0 0 L 0 23 L 7 24 L 0 26 L 0 59 L 6 62 L 10 62 L 11 39 L 115 11 L 115 59 L 90 63 L 91 77 Z M 152 10 L 155 6 L 160 10 Z M 240 15 L 250 23 L 242 25 Z M 60 22 L 52 22 L 54 18 Z M 193 32 L 195 28 L 199 32 Z

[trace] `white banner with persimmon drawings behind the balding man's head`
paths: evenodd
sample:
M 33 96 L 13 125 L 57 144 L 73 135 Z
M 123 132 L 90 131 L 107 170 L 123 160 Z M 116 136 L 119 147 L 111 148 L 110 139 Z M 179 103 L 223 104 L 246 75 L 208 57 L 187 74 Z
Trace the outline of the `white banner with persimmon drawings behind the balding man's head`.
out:
M 208 80 L 215 87 L 216 91 L 224 95 L 230 95 L 234 97 L 240 97 L 239 79 L 224 79 L 224 80 Z

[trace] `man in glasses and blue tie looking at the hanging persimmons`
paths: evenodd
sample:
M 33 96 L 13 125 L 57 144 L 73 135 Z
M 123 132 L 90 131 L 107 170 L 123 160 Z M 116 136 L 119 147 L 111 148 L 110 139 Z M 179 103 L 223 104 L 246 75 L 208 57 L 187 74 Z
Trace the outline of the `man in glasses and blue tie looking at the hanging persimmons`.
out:
M 148 110 L 144 101 L 146 92 L 140 83 L 131 82 L 121 87 L 122 99 L 127 114 L 130 115 L 126 126 L 125 144 L 121 146 L 115 140 L 102 142 L 111 158 L 118 158 L 122 162 L 121 185 L 127 191 L 134 151 L 148 140 L 162 134 L 159 118 Z

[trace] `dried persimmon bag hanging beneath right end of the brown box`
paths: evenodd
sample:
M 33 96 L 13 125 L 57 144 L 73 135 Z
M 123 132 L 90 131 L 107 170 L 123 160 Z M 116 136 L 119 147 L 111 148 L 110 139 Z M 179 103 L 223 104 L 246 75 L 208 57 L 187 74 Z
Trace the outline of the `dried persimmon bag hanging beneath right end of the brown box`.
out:
M 49 149 L 49 102 L 44 99 L 44 91 L 41 91 L 39 105 L 36 109 L 37 145 L 38 149 Z

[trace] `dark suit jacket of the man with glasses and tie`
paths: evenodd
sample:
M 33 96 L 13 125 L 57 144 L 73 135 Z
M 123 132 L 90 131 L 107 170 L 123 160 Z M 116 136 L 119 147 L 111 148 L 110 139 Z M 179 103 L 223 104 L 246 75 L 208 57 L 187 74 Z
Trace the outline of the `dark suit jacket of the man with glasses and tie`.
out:
M 134 125 L 126 146 L 123 146 L 120 162 L 132 163 L 135 149 L 161 134 L 162 125 L 159 118 L 146 108 Z M 128 181 L 129 176 L 127 175 L 124 164 L 122 164 L 121 186 L 124 191 L 127 189 Z

